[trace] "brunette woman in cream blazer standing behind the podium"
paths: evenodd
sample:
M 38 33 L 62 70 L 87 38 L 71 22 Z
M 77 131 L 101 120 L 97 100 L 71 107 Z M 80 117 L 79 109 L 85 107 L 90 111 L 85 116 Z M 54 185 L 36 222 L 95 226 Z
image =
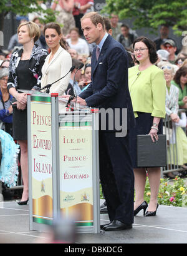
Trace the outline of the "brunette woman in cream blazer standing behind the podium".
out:
M 47 56 L 44 66 L 42 66 L 41 87 L 54 83 L 62 76 L 67 74 L 72 66 L 70 54 L 63 48 L 62 34 L 60 26 L 57 23 L 48 23 L 44 28 L 46 43 L 50 48 L 50 54 Z M 64 95 L 69 84 L 70 73 L 57 83 L 52 84 L 49 93 L 59 93 Z

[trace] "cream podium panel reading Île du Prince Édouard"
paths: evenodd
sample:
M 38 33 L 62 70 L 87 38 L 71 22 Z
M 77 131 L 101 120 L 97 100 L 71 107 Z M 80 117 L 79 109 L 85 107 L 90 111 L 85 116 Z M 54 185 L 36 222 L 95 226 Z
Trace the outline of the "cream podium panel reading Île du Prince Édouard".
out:
M 77 227 L 93 225 L 92 126 L 60 123 L 60 210 Z

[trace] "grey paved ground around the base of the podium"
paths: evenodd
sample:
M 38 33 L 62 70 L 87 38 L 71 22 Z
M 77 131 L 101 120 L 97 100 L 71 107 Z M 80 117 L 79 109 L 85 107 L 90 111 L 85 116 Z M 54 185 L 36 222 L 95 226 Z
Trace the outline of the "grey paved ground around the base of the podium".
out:
M 45 243 L 47 233 L 29 230 L 29 205 L 0 205 L 0 243 Z M 108 215 L 100 215 L 101 223 Z M 187 208 L 160 205 L 156 217 L 135 217 L 132 230 L 84 233 L 77 243 L 187 243 Z

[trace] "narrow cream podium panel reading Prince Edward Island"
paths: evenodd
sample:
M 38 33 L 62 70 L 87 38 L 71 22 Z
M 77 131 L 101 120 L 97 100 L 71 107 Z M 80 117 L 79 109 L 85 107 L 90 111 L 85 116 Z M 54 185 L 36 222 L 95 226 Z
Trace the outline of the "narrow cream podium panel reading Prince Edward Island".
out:
M 50 224 L 53 215 L 50 97 L 31 96 L 30 106 L 32 221 Z

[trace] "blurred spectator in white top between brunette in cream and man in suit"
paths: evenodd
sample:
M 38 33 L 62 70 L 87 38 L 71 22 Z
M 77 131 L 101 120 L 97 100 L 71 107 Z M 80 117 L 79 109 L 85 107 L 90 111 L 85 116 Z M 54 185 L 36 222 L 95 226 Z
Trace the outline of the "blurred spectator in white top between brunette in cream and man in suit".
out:
M 72 28 L 70 29 L 70 38 L 67 38 L 66 41 L 69 44 L 70 48 L 75 49 L 78 54 L 87 54 L 90 55 L 89 44 L 85 39 L 79 37 L 79 29 Z

